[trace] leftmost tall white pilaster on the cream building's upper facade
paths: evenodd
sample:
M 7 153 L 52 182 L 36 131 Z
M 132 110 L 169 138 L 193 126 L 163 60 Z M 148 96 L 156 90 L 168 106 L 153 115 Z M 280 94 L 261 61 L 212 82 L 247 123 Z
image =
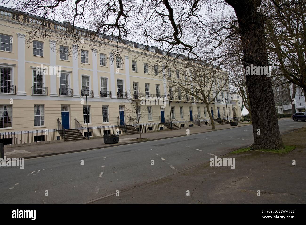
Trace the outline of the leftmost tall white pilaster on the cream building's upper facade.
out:
M 25 37 L 26 35 L 17 33 L 17 39 L 18 39 L 17 95 L 27 95 L 27 92 L 25 92 Z

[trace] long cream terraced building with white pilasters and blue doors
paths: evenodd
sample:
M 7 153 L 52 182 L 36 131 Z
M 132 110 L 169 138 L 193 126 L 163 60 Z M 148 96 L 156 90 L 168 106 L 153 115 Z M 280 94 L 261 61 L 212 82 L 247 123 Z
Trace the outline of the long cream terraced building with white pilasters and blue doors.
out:
M 69 56 L 66 47 L 57 44 L 56 40 L 38 38 L 28 45 L 27 31 L 34 21 L 30 16 L 21 30 L 20 24 L 14 22 L 14 19 L 20 19 L 16 17 L 16 12 L 0 7 L 0 133 L 57 129 L 58 119 L 66 129 L 75 128 L 75 118 L 82 126 L 87 126 L 87 122 L 89 126 L 117 126 L 118 118 L 127 123 L 129 114 L 126 109 L 131 106 L 126 98 L 130 97 L 130 88 L 143 90 L 145 96 L 168 95 L 169 87 L 159 72 L 157 75 L 149 73 L 150 60 L 134 57 L 144 49 L 146 54 L 157 52 L 155 47 L 129 42 L 129 53 L 114 62 L 107 61 L 113 49 L 111 43 L 97 52 L 84 47 L 82 52 Z M 50 29 L 57 32 L 66 25 L 50 23 Z M 47 70 L 55 68 L 58 75 L 54 72 L 49 75 L 50 71 L 44 74 L 43 69 L 36 73 L 41 65 Z M 85 89 L 90 90 L 88 108 L 82 91 Z M 230 93 L 220 93 L 219 99 L 223 97 L 230 99 Z M 230 101 L 227 106 L 216 101 L 209 109 L 194 99 L 170 103 L 174 121 L 189 121 L 189 126 L 197 126 L 190 122 L 194 115 L 209 122 L 207 110 L 214 114 L 214 118 L 227 114 L 229 120 L 233 119 Z M 146 112 L 141 123 L 161 123 L 170 115 L 169 101 L 165 108 L 153 105 L 143 106 L 142 110 Z

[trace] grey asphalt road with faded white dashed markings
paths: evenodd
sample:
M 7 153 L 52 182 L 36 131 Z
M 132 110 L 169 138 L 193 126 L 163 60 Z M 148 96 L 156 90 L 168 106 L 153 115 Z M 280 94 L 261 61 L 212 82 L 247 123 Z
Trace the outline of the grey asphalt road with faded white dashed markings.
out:
M 306 126 L 306 122 L 285 119 L 279 120 L 279 126 L 283 133 Z M 24 169 L 0 167 L 0 203 L 88 203 L 207 162 L 213 155 L 224 155 L 253 141 L 252 125 L 194 135 L 190 131 L 184 137 L 26 159 Z

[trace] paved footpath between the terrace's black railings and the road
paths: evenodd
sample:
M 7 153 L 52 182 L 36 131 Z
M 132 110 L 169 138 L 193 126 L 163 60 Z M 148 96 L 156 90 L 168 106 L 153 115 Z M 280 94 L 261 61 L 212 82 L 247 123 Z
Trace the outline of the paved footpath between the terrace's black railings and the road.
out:
M 250 125 L 249 122 L 238 123 L 238 126 L 246 126 L 246 125 Z M 216 130 L 228 129 L 234 127 L 235 126 L 230 126 L 230 124 L 216 125 Z M 156 139 L 184 136 L 186 135 L 186 129 L 143 133 L 141 134 L 141 138 L 150 138 L 150 141 L 152 141 Z M 188 129 L 190 129 L 190 134 L 213 131 L 211 129 L 211 126 L 203 126 L 203 127 L 196 126 L 196 127 L 189 127 Z M 85 139 L 82 141 L 66 141 L 66 142 L 51 143 L 51 144 L 35 144 L 35 145 L 22 146 L 22 147 L 4 148 L 4 155 L 7 158 L 30 159 L 42 156 L 52 156 L 52 155 L 69 153 L 69 152 L 81 152 L 81 151 L 98 149 L 98 148 L 107 148 L 115 145 L 140 142 L 140 141 L 133 141 L 133 139 L 136 138 L 139 138 L 139 134 L 122 135 L 119 137 L 118 144 L 104 144 L 103 138 L 93 138 L 90 140 Z

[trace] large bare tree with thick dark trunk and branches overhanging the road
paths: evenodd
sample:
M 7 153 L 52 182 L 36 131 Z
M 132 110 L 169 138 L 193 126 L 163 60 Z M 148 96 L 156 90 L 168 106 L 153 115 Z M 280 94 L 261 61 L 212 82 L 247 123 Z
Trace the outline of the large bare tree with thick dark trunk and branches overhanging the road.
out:
M 66 38 L 76 37 L 73 38 L 76 41 L 81 34 L 95 49 L 99 45 L 97 40 L 105 44 L 104 39 L 108 42 L 108 38 L 117 46 L 122 42 L 124 47 L 128 45 L 125 39 L 132 39 L 146 46 L 155 45 L 156 53 L 166 51 L 162 58 L 170 61 L 173 61 L 170 52 L 175 52 L 177 57 L 185 54 L 185 60 L 193 61 L 201 60 L 202 53 L 209 49 L 215 53 L 215 58 L 238 56 L 245 68 L 250 65 L 268 66 L 265 17 L 258 11 L 262 7 L 261 0 L 78 0 L 74 4 L 67 0 L 13 2 L 15 9 L 41 16 L 39 20 L 43 24 L 62 13 L 65 21 L 70 23 L 65 23 L 64 30 L 70 32 Z M 88 30 L 77 29 L 76 25 Z M 42 25 L 39 28 L 44 30 L 45 27 Z M 102 40 L 100 35 L 105 38 Z M 65 32 L 62 36 L 65 37 Z M 226 42 L 230 44 L 229 48 L 224 44 Z M 114 46 L 116 51 L 121 49 L 116 44 Z M 283 148 L 271 79 L 264 74 L 246 75 L 246 83 L 253 119 L 252 148 Z M 261 129 L 261 135 L 256 135 L 257 129 Z

